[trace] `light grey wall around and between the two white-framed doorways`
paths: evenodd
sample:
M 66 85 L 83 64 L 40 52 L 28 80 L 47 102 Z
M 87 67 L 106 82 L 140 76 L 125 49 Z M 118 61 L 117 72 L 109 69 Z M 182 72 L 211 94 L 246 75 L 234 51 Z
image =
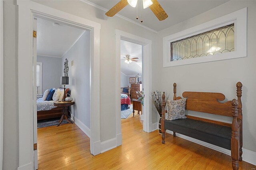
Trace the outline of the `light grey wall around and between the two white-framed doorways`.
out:
M 122 30 L 152 40 L 152 63 L 156 60 L 156 33 L 124 19 L 108 18 L 105 12 L 78 0 L 35 1 L 46 6 L 86 18 L 101 24 L 100 30 L 100 140 L 116 137 L 115 89 L 116 37 L 115 30 Z M 18 6 L 16 1 L 4 1 L 4 170 L 18 168 Z M 152 80 L 159 82 L 156 68 Z M 153 82 L 152 88 L 157 86 Z M 120 87 L 118 87 L 120 88 Z M 8 94 L 8 95 L 7 95 Z M 151 118 L 150 118 L 151 121 Z M 152 122 L 156 122 L 152 113 Z

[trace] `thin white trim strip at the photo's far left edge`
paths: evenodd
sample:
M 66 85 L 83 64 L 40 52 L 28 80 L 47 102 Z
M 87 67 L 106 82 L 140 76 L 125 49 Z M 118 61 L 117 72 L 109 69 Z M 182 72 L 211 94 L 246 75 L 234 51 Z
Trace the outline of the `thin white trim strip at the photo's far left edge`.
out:
M 3 0 L 0 0 L 0 170 L 3 168 L 4 137 L 4 12 Z

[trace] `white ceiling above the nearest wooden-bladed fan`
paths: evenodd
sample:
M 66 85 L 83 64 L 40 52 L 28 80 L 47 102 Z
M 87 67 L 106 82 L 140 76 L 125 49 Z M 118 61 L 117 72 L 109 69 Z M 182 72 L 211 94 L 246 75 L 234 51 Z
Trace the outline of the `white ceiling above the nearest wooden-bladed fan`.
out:
M 111 9 L 119 0 L 89 0 L 90 2 L 106 9 Z M 228 0 L 158 0 L 162 8 L 168 14 L 168 18 L 159 21 L 150 8 L 141 10 L 141 1 L 138 1 L 138 16 L 136 20 L 136 8 L 127 5 L 118 14 L 129 18 L 139 24 L 156 31 L 163 30 L 182 21 L 188 20 L 198 14 L 206 12 L 216 6 L 228 2 Z M 143 23 L 140 22 L 143 12 Z M 217 11 L 216 11 L 217 12 Z

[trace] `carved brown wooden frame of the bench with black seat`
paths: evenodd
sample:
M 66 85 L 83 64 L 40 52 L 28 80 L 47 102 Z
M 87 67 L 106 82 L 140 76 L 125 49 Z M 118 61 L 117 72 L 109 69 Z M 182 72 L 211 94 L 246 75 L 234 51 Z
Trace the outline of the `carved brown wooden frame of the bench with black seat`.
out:
M 181 97 L 176 97 L 176 83 L 173 84 L 173 100 L 181 99 Z M 238 170 L 238 160 L 242 161 L 242 146 L 243 146 L 243 130 L 242 130 L 242 83 L 238 82 L 236 84 L 236 96 L 237 99 L 233 99 L 232 101 L 227 101 L 224 103 L 218 102 L 218 100 L 225 100 L 225 96 L 222 93 L 212 93 L 212 92 L 183 92 L 182 96 L 184 98 L 187 97 L 186 100 L 186 110 L 192 110 L 197 112 L 204 112 L 210 114 L 217 114 L 222 116 L 233 117 L 232 124 L 226 122 L 219 122 L 215 120 L 209 120 L 205 118 L 199 118 L 195 116 L 187 116 L 188 119 L 194 119 L 196 121 L 209 122 L 212 124 L 218 124 L 221 126 L 228 126 L 231 129 L 231 157 L 232 157 L 232 168 L 233 170 Z M 173 124 L 172 121 L 175 120 L 165 120 L 165 94 L 162 95 L 162 120 L 161 120 L 161 131 L 162 131 L 162 144 L 165 143 L 165 131 L 166 127 L 179 127 L 179 125 L 170 126 L 168 124 Z M 185 121 L 185 120 L 184 120 Z M 164 123 L 166 122 L 166 126 Z M 177 128 L 178 129 L 178 128 Z M 171 129 L 168 129 L 171 130 Z M 172 130 L 173 131 L 173 130 Z M 196 131 L 196 130 L 195 130 Z M 194 132 L 195 132 L 194 131 Z M 179 132 L 180 134 L 186 132 Z M 200 134 L 199 131 L 196 131 L 195 134 Z M 194 135 L 194 134 L 191 134 Z M 173 136 L 176 136 L 176 132 L 173 132 Z M 195 135 L 196 136 L 196 135 Z M 190 136 L 191 137 L 191 136 Z M 195 137 L 196 138 L 196 137 Z M 214 140 L 211 138 L 209 140 Z M 220 141 L 222 142 L 222 141 Z

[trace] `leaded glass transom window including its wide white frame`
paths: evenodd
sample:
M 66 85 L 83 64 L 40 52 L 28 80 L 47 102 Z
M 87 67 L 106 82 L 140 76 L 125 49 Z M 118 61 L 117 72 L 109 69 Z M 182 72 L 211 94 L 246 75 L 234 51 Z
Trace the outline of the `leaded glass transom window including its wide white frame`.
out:
M 247 8 L 163 37 L 163 66 L 247 56 Z

